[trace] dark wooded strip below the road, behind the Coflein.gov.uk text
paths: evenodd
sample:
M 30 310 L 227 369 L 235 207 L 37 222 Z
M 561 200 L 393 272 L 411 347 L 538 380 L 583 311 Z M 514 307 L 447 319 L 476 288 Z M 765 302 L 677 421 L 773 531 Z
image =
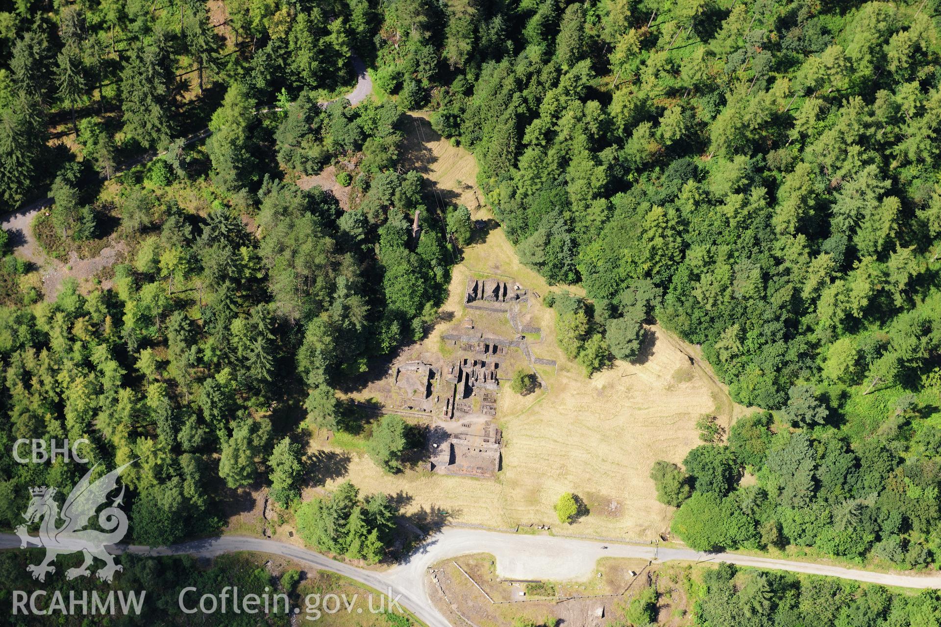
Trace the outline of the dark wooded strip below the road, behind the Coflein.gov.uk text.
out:
M 4 603 L 8 603 L 8 588 L 17 590 L 46 591 L 53 596 L 60 594 L 69 599 L 70 593 L 81 598 L 83 594 L 92 599 L 92 595 L 103 596 L 104 590 L 97 582 L 85 579 L 76 579 L 72 582 L 56 578 L 55 582 L 46 582 L 45 585 L 36 582 L 25 571 L 25 565 L 30 560 L 36 561 L 39 551 L 0 553 L 0 574 L 4 577 L 5 588 L 0 591 Z M 124 599 L 128 607 L 127 612 L 119 611 L 119 616 L 108 616 L 106 610 L 88 612 L 88 616 L 20 616 L 10 617 L 9 625 L 15 627 L 43 627 L 50 624 L 75 625 L 86 627 L 88 625 L 191 625 L 194 614 L 199 616 L 199 624 L 206 627 L 258 627 L 271 625 L 271 627 L 288 627 L 298 619 L 301 624 L 308 622 L 316 624 L 318 620 L 334 620 L 343 617 L 330 617 L 325 611 L 323 600 L 331 594 L 346 595 L 347 603 L 355 609 L 362 610 L 367 616 L 370 611 L 369 596 L 374 591 L 357 587 L 354 582 L 344 579 L 340 575 L 325 571 L 309 571 L 303 575 L 296 568 L 289 568 L 295 564 L 273 566 L 268 556 L 256 553 L 239 553 L 235 555 L 217 556 L 211 564 L 200 563 L 192 556 L 121 556 L 124 572 L 110 588 L 117 593 L 116 607 L 121 607 Z M 81 559 L 77 555 L 62 556 L 60 560 L 69 565 L 78 565 Z M 188 588 L 188 589 L 187 589 Z M 202 612 L 199 610 L 199 592 L 202 590 L 223 590 L 228 588 L 229 597 L 227 611 Z M 232 588 L 237 588 L 237 594 Z M 183 593 L 181 606 L 180 596 Z M 136 595 L 139 603 L 139 612 L 135 611 L 134 603 L 130 601 L 131 595 Z M 257 605 L 244 604 L 251 595 L 259 599 Z M 89 602 L 89 607 L 92 606 Z M 107 603 L 104 600 L 103 604 Z M 286 605 L 286 607 L 285 607 Z M 96 605 L 99 607 L 100 605 Z M 106 605 L 105 605 L 106 606 Z M 209 602 L 203 606 L 211 608 Z M 221 602 L 216 607 L 221 610 Z M 232 611 L 238 607 L 241 611 Z M 372 606 L 378 616 L 370 617 L 370 625 L 383 625 L 388 627 L 412 627 L 418 624 L 414 617 L 403 615 L 397 607 L 391 604 L 380 604 L 375 601 Z M 183 608 L 186 612 L 183 612 Z M 300 616 L 295 616 L 294 609 Z M 390 609 L 391 608 L 391 609 Z M 246 611 L 246 609 L 248 611 Z M 252 610 L 255 610 L 252 612 Z M 267 611 L 265 611 L 267 610 Z M 355 610 L 354 610 L 355 611 Z M 406 610 L 407 611 L 407 610 Z M 126 616 L 120 616 L 125 614 Z M 263 616 L 263 618 L 262 618 Z M 295 618 L 292 618 L 292 617 Z M 359 618 L 359 614 L 357 615 Z M 359 624 L 363 624 L 358 620 Z

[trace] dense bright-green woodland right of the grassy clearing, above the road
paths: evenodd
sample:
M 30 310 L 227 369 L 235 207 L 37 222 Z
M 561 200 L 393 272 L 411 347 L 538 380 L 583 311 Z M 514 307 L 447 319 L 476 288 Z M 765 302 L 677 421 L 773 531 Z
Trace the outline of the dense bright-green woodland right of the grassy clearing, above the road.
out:
M 385 10 L 378 84 L 586 291 L 550 301 L 565 352 L 590 373 L 658 321 L 774 410 L 655 470 L 695 548 L 941 559 L 937 29 L 927 0 Z

